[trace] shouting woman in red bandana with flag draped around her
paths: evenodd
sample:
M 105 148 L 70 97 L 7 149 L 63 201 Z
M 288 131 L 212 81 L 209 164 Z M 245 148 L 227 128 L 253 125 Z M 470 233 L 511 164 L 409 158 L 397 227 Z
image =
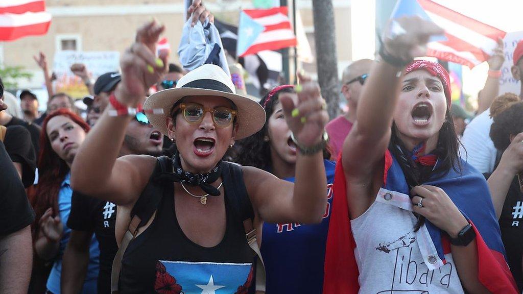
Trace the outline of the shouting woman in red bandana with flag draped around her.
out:
M 391 21 L 335 173 L 324 293 L 516 293 L 488 187 L 458 151 L 443 31 Z M 346 195 L 346 197 L 340 197 Z

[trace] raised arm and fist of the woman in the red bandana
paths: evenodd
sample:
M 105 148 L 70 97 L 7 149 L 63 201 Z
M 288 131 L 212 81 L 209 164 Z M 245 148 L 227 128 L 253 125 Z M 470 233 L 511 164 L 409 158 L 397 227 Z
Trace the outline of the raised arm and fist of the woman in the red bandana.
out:
M 373 66 L 363 88 L 356 123 L 345 139 L 342 163 L 350 178 L 369 183 L 389 144 L 392 116 L 404 64 L 423 56 L 431 35 L 443 31 L 419 17 L 392 20 L 383 38 L 382 61 Z M 391 60 L 396 60 L 392 62 Z M 396 63 L 396 64 L 392 64 Z

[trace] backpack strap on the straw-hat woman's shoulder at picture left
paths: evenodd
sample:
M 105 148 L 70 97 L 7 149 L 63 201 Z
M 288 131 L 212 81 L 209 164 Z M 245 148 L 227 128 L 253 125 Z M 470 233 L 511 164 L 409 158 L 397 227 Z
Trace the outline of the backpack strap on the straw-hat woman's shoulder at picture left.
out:
M 127 250 L 127 246 L 131 243 L 138 234 L 138 230 L 143 227 L 151 217 L 153 216 L 160 200 L 162 200 L 164 186 L 157 181 L 158 175 L 161 172 L 169 171 L 170 159 L 167 156 L 158 157 L 156 160 L 156 166 L 154 171 L 149 178 L 149 183 L 145 186 L 142 191 L 140 198 L 134 204 L 131 210 L 131 222 L 127 228 L 126 233 L 123 235 L 122 242 L 118 248 L 118 252 L 115 255 L 115 259 L 112 261 L 111 269 L 111 293 L 118 294 L 118 284 L 120 281 L 120 270 L 122 267 L 123 254 Z M 172 166 L 172 165 L 171 165 Z M 148 197 L 145 197 L 148 196 Z

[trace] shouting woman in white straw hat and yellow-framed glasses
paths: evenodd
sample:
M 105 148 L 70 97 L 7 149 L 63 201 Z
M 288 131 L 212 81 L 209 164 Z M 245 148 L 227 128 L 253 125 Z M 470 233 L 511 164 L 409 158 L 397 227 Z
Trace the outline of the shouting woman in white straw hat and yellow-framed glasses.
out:
M 156 59 L 152 53 L 164 29 L 155 21 L 144 25 L 122 55 L 122 81 L 76 157 L 72 185 L 119 205 L 121 292 L 246 293 L 253 280 L 254 254 L 245 239 L 251 217 L 254 227 L 260 221 L 322 219 L 327 201 L 321 152 L 328 120 L 325 101 L 312 84 L 298 95 L 280 96 L 300 146 L 295 184 L 221 160 L 235 140 L 264 125 L 265 112 L 236 95 L 231 78 L 210 64 L 145 101 L 152 125 L 176 142 L 179 153 L 167 160 L 146 155 L 117 159 L 132 118 L 127 114 L 137 111 L 146 90 L 165 71 L 167 56 Z M 118 255 L 113 275 L 119 270 L 117 260 Z M 113 279 L 113 289 L 117 286 Z

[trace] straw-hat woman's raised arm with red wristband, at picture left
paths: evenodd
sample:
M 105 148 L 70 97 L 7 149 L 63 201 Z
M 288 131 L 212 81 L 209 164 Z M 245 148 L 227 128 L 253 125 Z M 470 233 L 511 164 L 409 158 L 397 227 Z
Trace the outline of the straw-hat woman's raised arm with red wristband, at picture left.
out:
M 122 80 L 115 90 L 118 104 L 137 107 L 146 91 L 166 71 L 167 54 L 156 58 L 156 43 L 165 30 L 155 20 L 137 31 L 135 42 L 121 56 Z M 109 104 L 89 132 L 71 167 L 71 184 L 82 194 L 125 205 L 138 198 L 151 175 L 155 158 L 129 155 L 117 159 L 132 116 L 110 116 Z

